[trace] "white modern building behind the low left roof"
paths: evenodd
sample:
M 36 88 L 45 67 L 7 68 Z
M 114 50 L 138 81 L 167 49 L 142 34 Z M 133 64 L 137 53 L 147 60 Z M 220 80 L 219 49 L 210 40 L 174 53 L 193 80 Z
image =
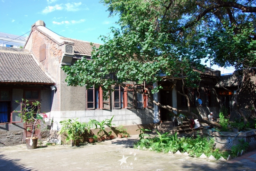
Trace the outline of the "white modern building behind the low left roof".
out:
M 25 36 L 12 35 L 0 32 L 0 46 L 11 48 L 23 48 L 26 43 Z

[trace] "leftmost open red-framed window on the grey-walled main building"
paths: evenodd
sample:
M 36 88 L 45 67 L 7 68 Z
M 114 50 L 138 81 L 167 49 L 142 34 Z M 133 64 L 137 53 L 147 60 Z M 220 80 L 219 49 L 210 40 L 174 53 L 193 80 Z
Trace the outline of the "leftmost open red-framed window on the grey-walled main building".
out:
M 108 92 L 106 93 L 108 96 Z M 86 108 L 87 109 L 109 109 L 109 96 L 103 98 L 101 87 L 90 87 L 86 90 Z

